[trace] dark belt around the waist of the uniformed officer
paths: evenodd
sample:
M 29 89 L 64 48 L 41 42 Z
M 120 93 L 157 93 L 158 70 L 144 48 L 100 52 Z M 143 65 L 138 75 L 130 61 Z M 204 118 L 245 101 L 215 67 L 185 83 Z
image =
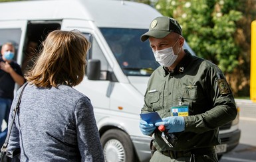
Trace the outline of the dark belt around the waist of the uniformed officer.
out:
M 201 155 L 205 153 L 215 153 L 215 147 L 203 147 L 199 149 L 190 149 L 188 151 L 160 151 L 163 155 L 171 157 L 172 159 L 177 159 L 180 157 L 190 157 L 192 154 Z

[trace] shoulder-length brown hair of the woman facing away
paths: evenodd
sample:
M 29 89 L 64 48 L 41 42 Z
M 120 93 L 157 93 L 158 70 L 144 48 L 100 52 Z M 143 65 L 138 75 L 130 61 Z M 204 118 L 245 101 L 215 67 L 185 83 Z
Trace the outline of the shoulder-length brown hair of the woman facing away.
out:
M 78 85 L 84 78 L 90 42 L 78 30 L 50 32 L 25 79 L 37 87 Z

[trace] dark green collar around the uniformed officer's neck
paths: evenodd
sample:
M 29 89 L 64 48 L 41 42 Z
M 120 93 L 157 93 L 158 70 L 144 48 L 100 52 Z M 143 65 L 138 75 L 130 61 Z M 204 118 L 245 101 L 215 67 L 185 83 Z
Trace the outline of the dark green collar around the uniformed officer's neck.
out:
M 188 64 L 190 63 L 192 55 L 190 54 L 190 52 L 188 50 L 184 50 L 184 51 L 185 51 L 186 55 L 180 61 L 180 63 L 178 63 L 178 65 L 176 65 L 173 72 L 168 71 L 168 69 L 166 69 L 167 67 L 163 67 L 164 77 L 166 77 L 166 75 L 168 75 L 169 73 L 171 75 L 176 75 L 178 73 L 184 73 L 184 71 L 186 71 L 186 67 L 188 67 Z M 181 68 L 183 69 L 182 72 L 180 71 Z

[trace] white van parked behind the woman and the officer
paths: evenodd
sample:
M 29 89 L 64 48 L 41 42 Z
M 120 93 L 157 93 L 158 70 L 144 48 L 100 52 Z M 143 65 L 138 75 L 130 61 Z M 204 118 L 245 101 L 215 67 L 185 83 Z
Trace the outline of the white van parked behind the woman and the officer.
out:
M 142 43 L 139 38 L 154 18 L 162 16 L 158 11 L 130 1 L 53 0 L 0 3 L 0 15 L 0 45 L 13 42 L 15 58 L 20 65 L 25 59 L 29 38 L 43 41 L 48 32 L 56 29 L 76 29 L 84 33 L 92 42 L 88 63 L 100 61 L 100 77 L 88 79 L 86 75 L 74 88 L 90 98 L 94 106 L 106 161 L 149 161 L 152 138 L 144 136 L 138 125 L 146 85 L 154 70 L 145 66 L 148 62 L 154 64 L 145 57 L 154 56 L 148 42 Z M 133 31 L 136 34 L 132 34 Z M 132 40 L 132 36 L 136 40 Z M 118 62 L 112 49 L 114 45 L 110 40 L 114 44 L 123 43 L 122 50 L 132 49 L 132 45 L 126 44 L 130 38 L 136 48 L 144 46 L 147 49 L 142 57 L 146 60 L 145 65 L 140 69 L 123 67 L 128 66 L 128 62 Z M 187 44 L 185 48 L 190 50 Z M 136 52 L 129 54 L 137 60 Z M 94 71 L 87 69 L 87 72 Z M 228 133 L 229 130 L 224 131 Z

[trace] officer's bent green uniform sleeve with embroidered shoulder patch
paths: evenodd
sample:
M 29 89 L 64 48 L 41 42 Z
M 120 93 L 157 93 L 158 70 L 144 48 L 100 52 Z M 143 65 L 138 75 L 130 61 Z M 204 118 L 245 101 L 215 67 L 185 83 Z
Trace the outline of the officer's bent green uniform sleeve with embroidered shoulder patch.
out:
M 185 131 L 203 133 L 213 130 L 234 120 L 237 108 L 233 94 L 225 76 L 217 66 L 208 69 L 205 75 L 205 87 L 211 109 L 202 114 L 185 116 Z

